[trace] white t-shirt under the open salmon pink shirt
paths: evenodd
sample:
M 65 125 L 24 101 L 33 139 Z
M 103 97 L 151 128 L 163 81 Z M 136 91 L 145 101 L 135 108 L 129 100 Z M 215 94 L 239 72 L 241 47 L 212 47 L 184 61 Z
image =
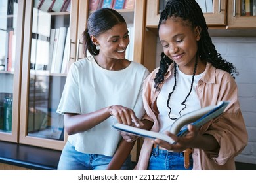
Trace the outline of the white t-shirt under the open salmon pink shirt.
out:
M 179 118 L 188 112 L 201 108 L 198 95 L 196 95 L 196 86 L 198 85 L 198 81 L 202 75 L 203 73 L 194 76 L 193 88 L 189 97 L 186 99 L 186 108 L 184 108 L 184 105 L 181 105 L 181 103 L 184 101 L 188 95 L 188 92 L 190 91 L 192 75 L 185 75 L 179 70 L 179 67 L 177 66 L 177 84 L 169 101 L 169 107 L 171 107 L 171 118 Z M 167 79 L 165 84 L 163 84 L 163 88 L 161 88 L 158 99 L 156 101 L 159 111 L 158 120 L 160 121 L 160 133 L 170 130 L 171 125 L 175 121 L 169 118 L 168 114 L 170 110 L 167 107 L 168 96 L 169 93 L 173 91 L 174 84 L 175 78 L 172 71 L 171 76 Z M 182 110 L 182 108 L 184 108 L 184 110 Z M 179 114 L 180 111 L 181 115 Z

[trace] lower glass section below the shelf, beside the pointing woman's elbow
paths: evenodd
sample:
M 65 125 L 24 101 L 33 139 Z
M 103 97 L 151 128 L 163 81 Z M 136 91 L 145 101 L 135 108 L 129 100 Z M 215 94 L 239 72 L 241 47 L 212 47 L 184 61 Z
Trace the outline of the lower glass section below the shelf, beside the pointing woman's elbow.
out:
M 64 140 L 63 115 L 56 109 L 65 82 L 63 76 L 30 75 L 29 136 Z

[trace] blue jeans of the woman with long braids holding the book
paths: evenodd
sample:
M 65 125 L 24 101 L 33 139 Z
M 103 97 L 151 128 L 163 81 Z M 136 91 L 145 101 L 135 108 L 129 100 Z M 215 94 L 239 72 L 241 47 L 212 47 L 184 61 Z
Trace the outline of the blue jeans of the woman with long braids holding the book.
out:
M 190 154 L 190 165 L 184 167 L 183 152 L 168 152 L 158 147 L 153 148 L 148 163 L 148 170 L 191 170 L 193 168 L 192 154 Z

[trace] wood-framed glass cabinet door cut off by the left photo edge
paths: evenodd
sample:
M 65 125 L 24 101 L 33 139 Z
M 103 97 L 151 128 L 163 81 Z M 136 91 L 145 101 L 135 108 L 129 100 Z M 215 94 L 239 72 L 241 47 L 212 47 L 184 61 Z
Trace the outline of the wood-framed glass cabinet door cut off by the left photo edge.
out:
M 0 1 L 0 140 L 18 142 L 23 1 Z

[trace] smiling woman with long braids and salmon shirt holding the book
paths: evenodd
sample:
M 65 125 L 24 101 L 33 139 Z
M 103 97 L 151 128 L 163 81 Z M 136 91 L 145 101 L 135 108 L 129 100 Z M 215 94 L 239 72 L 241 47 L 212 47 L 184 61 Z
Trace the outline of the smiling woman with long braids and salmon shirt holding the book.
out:
M 160 67 L 144 81 L 144 119 L 176 143 L 144 139 L 135 169 L 235 169 L 234 158 L 247 144 L 236 68 L 217 53 L 194 0 L 169 1 L 158 33 L 163 53 Z M 219 101 L 230 101 L 219 118 L 199 129 L 188 125 L 184 137 L 167 132 L 180 116 Z

